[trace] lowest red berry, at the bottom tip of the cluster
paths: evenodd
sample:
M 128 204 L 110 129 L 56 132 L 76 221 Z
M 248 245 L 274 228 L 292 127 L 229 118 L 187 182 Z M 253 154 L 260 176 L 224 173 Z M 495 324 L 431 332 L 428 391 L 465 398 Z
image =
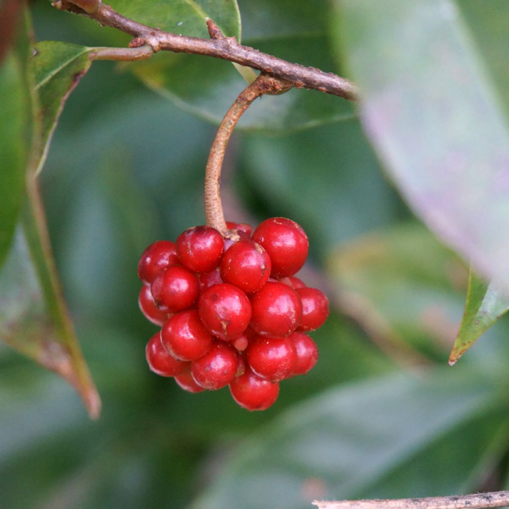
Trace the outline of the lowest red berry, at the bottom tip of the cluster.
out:
M 277 400 L 279 382 L 264 380 L 246 366 L 244 374 L 230 382 L 230 392 L 235 402 L 242 408 L 250 412 L 266 410 Z

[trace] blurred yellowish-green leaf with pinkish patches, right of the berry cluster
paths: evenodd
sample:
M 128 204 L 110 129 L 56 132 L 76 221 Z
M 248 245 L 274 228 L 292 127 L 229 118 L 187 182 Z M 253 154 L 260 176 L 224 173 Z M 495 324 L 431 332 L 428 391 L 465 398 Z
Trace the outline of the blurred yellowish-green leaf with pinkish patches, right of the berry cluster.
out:
M 466 270 L 422 226 L 368 234 L 330 258 L 338 303 L 389 353 L 442 358 L 461 317 Z

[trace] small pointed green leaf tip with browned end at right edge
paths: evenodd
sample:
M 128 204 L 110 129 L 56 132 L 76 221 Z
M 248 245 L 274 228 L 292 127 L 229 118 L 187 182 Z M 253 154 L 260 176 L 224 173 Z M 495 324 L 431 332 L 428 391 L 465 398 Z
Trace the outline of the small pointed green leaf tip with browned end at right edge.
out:
M 509 311 L 509 297 L 492 281 L 489 285 L 470 270 L 463 320 L 449 364 L 453 365 L 502 315 Z

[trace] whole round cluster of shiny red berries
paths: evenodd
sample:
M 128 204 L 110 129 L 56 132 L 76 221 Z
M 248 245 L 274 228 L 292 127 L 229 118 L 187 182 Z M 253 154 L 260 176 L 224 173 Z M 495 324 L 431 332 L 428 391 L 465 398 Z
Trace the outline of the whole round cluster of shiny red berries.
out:
M 267 219 L 252 235 L 248 224 L 227 227 L 224 237 L 190 228 L 143 252 L 139 307 L 162 327 L 147 344 L 147 362 L 184 390 L 229 385 L 241 407 L 265 410 L 281 380 L 315 365 L 318 349 L 304 332 L 325 322 L 329 303 L 294 276 L 308 252 L 296 222 Z

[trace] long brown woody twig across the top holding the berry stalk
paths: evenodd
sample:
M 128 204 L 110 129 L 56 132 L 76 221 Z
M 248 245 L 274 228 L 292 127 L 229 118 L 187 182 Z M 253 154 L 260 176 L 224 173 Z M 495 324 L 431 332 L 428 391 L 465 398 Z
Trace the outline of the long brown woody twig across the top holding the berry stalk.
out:
M 155 52 L 167 50 L 175 53 L 212 56 L 286 79 L 291 81 L 295 88 L 319 90 L 349 100 L 355 100 L 357 96 L 355 86 L 345 78 L 313 67 L 304 67 L 278 59 L 249 46 L 241 45 L 234 37 L 216 37 L 215 31 L 211 33 L 211 39 L 172 34 L 126 18 L 105 4 L 98 6 L 96 4 L 94 12 L 86 12 L 78 7 L 77 4 L 80 2 L 83 0 L 74 0 L 73 2 L 58 0 L 53 2 L 53 6 L 89 16 L 101 25 L 111 26 L 135 38 L 143 39 L 146 44 L 154 48 Z

